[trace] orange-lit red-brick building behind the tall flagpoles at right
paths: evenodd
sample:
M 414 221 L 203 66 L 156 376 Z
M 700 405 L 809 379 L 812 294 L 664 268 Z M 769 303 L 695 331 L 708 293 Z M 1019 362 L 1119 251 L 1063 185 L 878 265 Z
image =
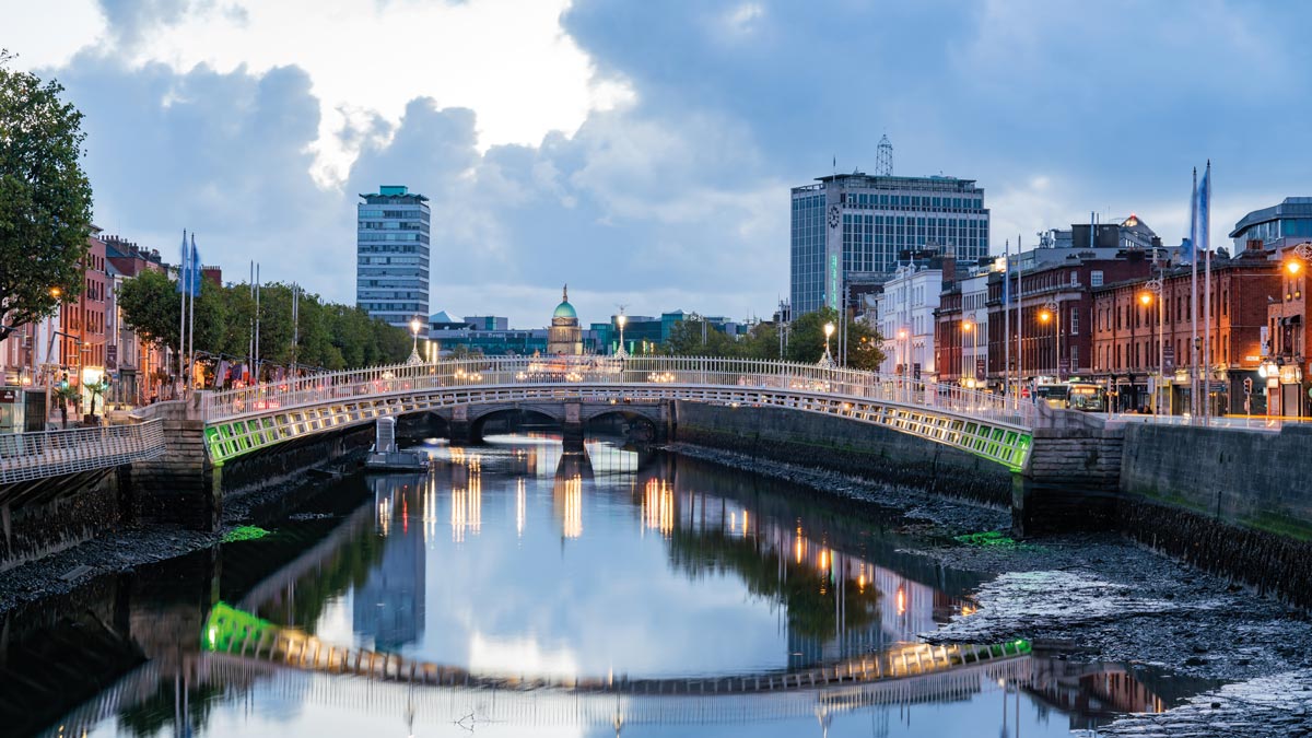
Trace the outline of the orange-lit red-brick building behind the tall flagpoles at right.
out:
M 1161 281 L 1161 295 L 1148 289 Z M 1258 250 L 1233 259 L 1212 257 L 1211 383 L 1214 414 L 1244 412 L 1244 380 L 1254 382 L 1254 414 L 1265 412 L 1257 368 L 1262 358 L 1261 334 L 1267 298 L 1279 290 L 1278 265 Z M 1190 369 L 1202 362 L 1207 334 L 1203 316 L 1208 289 L 1202 265 L 1198 276 L 1199 355 L 1193 356 L 1191 268 L 1153 269 L 1152 274 L 1106 284 L 1093 290 L 1093 366 L 1090 376 L 1110 387 L 1114 407 L 1122 411 L 1153 407 L 1155 389 L 1162 412 L 1181 415 L 1190 407 Z M 1160 327 L 1158 327 L 1160 326 Z M 1158 376 L 1165 368 L 1165 382 Z

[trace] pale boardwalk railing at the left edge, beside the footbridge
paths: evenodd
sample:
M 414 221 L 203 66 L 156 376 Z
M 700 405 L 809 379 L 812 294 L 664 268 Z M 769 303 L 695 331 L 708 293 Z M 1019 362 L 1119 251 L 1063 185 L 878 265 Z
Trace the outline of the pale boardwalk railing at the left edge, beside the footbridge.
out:
M 0 435 L 0 485 L 108 469 L 164 453 L 159 420 Z

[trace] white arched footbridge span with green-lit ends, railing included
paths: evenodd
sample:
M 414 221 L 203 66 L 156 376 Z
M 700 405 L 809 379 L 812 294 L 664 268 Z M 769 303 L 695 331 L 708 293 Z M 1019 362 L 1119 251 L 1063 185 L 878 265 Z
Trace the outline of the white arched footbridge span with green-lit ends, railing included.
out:
M 883 425 L 1025 467 L 1033 404 L 951 385 L 811 364 L 689 357 L 484 357 L 318 374 L 206 393 L 210 458 L 461 404 L 687 401 L 785 407 Z

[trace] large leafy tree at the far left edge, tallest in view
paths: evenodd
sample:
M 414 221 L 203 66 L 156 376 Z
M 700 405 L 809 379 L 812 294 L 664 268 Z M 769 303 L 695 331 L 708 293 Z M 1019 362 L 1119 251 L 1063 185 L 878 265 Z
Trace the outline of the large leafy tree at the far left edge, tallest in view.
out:
M 92 204 L 81 113 L 12 59 L 0 50 L 0 340 L 81 294 Z

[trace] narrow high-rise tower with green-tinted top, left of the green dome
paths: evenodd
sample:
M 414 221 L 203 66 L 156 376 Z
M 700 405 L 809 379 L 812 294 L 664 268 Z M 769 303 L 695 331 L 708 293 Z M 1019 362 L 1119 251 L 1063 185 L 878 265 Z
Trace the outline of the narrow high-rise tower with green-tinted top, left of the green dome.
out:
M 357 205 L 356 305 L 374 318 L 409 330 L 420 319 L 428 335 L 428 198 L 404 185 L 361 194 Z

